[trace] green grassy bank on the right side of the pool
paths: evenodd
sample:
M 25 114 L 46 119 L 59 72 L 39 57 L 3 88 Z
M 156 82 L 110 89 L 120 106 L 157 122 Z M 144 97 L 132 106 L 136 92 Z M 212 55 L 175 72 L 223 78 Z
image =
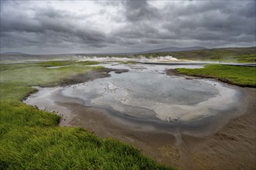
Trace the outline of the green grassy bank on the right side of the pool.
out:
M 206 65 L 202 69 L 175 69 L 178 73 L 189 76 L 204 76 L 232 83 L 242 87 L 256 87 L 255 66 L 223 66 L 218 64 Z

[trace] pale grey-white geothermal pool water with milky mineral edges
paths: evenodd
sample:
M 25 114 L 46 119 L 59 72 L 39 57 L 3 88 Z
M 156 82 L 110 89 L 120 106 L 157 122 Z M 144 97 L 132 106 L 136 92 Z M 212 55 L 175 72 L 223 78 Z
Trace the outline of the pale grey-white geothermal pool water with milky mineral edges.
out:
M 41 94 L 33 94 L 26 103 L 38 104 L 38 101 L 44 100 L 47 105 L 64 102 L 63 98 L 66 98 L 65 102 L 106 109 L 112 113 L 110 116 L 122 121 L 164 126 L 202 125 L 202 122 L 206 124 L 209 121 L 209 117 L 220 117 L 221 113 L 240 107 L 237 104 L 240 92 L 234 88 L 213 80 L 185 79 L 168 76 L 164 72 L 165 69 L 175 67 L 201 66 L 118 63 L 104 66 L 128 69 L 129 72 L 111 73 L 110 77 L 69 87 L 43 88 L 40 90 Z

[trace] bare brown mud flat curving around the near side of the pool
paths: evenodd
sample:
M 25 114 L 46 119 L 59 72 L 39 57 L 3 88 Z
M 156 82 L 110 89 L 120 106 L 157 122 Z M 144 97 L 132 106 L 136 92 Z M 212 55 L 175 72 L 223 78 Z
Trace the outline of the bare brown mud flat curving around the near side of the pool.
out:
M 102 71 L 102 74 L 108 76 L 108 71 L 112 70 L 107 70 L 106 73 Z M 78 80 L 67 81 L 67 84 L 104 77 L 97 73 L 93 73 L 93 76 L 90 74 L 92 78 L 86 75 L 88 74 L 79 76 Z M 58 103 L 59 107 L 65 107 L 67 110 L 57 111 L 62 115 L 61 125 L 85 128 L 100 138 L 125 141 L 165 165 L 180 169 L 255 169 L 256 89 L 237 88 L 244 91 L 245 96 L 241 100 L 247 100 L 245 113 L 231 120 L 216 133 L 202 137 L 123 124 L 107 116 L 104 110 L 85 107 L 71 100 Z

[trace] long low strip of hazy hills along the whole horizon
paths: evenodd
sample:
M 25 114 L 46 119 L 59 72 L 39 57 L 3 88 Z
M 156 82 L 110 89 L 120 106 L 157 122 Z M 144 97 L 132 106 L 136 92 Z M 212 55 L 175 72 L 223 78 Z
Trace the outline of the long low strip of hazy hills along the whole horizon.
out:
M 178 48 L 168 47 L 163 49 L 154 49 L 141 53 L 106 53 L 106 54 L 88 54 L 88 53 L 74 53 L 74 54 L 52 54 L 52 55 L 30 55 L 25 53 L 2 53 L 0 60 L 52 60 L 52 59 L 78 59 L 83 56 L 115 56 L 115 57 L 147 57 L 154 58 L 157 56 L 173 56 L 177 59 L 189 59 L 200 61 L 220 61 L 220 62 L 234 62 L 234 63 L 256 63 L 256 46 L 252 47 L 236 47 L 236 48 L 218 48 L 206 49 L 202 46 Z

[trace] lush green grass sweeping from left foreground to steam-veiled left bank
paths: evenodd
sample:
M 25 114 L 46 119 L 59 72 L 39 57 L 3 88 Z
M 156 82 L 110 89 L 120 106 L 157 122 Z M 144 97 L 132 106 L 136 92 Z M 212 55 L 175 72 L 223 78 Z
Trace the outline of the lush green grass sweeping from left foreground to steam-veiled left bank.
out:
M 82 128 L 59 127 L 56 114 L 22 103 L 35 91 L 32 86 L 55 86 L 67 77 L 102 69 L 88 64 L 0 65 L 0 169 L 171 169 L 130 145 L 99 139 Z

